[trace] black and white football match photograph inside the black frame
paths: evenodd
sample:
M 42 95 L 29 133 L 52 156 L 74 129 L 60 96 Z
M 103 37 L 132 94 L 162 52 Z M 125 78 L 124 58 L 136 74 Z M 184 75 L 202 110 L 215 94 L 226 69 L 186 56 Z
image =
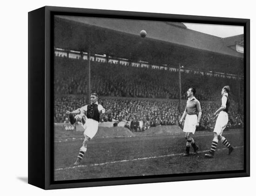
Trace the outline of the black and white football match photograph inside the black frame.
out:
M 244 26 L 54 15 L 54 181 L 245 169 Z

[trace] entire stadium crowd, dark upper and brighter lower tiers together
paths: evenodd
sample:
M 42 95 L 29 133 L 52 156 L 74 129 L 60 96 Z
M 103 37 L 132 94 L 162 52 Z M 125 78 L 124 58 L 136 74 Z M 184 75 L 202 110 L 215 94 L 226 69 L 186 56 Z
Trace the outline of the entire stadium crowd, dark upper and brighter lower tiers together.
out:
M 54 93 L 57 95 L 54 100 L 54 122 L 64 122 L 67 110 L 72 111 L 86 103 L 87 62 L 69 58 L 63 60 L 60 57 L 55 57 L 54 61 Z M 239 93 L 236 79 L 207 76 L 194 71 L 182 72 L 183 106 L 179 112 L 178 101 L 174 100 L 179 97 L 178 76 L 176 71 L 91 62 L 91 91 L 108 97 L 100 100 L 106 108 L 101 121 L 131 121 L 131 125 L 143 121 L 144 129 L 157 125 L 177 125 L 185 108 L 186 91 L 194 87 L 195 97 L 202 107 L 200 129 L 210 129 L 213 126 L 212 114 L 220 106 L 216 101 L 220 101 L 221 89 L 225 84 L 230 86 L 232 92 L 229 127 L 243 126 L 243 114 L 237 108 Z M 240 94 L 243 101 L 243 83 L 240 83 Z M 84 97 L 81 98 L 81 95 Z M 130 128 L 137 130 L 136 126 Z

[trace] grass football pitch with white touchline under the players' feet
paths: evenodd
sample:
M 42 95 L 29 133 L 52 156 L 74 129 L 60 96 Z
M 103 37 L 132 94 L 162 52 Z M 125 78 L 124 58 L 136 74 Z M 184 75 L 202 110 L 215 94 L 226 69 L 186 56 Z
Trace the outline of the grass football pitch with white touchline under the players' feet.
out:
M 81 133 L 73 140 L 54 143 L 54 180 L 243 170 L 243 130 L 230 130 L 223 136 L 235 150 L 228 156 L 228 149 L 219 142 L 212 159 L 204 158 L 213 139 L 209 132 L 195 133 L 199 153 L 189 157 L 182 157 L 186 145 L 183 134 L 95 138 L 89 142 L 81 165 L 74 167 L 83 141 Z

